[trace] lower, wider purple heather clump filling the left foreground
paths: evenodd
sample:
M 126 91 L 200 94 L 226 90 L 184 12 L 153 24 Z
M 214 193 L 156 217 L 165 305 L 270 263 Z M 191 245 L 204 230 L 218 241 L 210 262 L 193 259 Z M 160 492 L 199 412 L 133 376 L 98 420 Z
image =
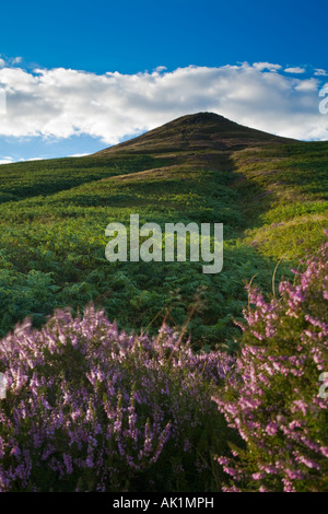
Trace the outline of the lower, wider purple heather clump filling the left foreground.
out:
M 218 489 L 227 429 L 211 395 L 233 362 L 165 326 L 119 332 L 93 307 L 25 320 L 0 343 L 0 490 Z

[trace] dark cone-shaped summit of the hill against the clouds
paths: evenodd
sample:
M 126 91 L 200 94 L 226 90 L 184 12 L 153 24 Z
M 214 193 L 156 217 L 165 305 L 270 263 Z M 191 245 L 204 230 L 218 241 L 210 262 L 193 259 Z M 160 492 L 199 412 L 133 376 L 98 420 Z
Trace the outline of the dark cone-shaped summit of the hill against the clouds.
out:
M 188 150 L 241 150 L 268 143 L 288 143 L 290 139 L 244 127 L 215 113 L 181 116 L 134 139 L 97 152 L 167 153 Z

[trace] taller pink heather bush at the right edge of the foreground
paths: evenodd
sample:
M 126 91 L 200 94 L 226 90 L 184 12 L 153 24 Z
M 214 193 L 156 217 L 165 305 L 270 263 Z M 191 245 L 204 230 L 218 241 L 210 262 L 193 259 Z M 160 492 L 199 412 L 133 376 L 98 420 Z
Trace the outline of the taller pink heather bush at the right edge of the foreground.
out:
M 294 273 L 271 300 L 249 288 L 234 378 L 215 397 L 244 440 L 218 458 L 231 478 L 226 491 L 328 489 L 327 398 L 319 395 L 328 358 L 328 243 Z

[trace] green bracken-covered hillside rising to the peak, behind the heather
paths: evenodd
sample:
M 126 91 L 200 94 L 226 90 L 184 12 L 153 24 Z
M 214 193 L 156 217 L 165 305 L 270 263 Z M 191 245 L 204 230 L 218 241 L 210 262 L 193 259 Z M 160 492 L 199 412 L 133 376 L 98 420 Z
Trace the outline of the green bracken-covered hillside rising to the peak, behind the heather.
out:
M 199 346 L 231 342 L 245 281 L 271 289 L 327 226 L 328 142 L 301 143 L 212 114 L 87 157 L 0 166 L 0 330 L 54 308 L 104 306 L 127 329 L 166 319 Z M 105 259 L 109 222 L 223 222 L 224 268 Z

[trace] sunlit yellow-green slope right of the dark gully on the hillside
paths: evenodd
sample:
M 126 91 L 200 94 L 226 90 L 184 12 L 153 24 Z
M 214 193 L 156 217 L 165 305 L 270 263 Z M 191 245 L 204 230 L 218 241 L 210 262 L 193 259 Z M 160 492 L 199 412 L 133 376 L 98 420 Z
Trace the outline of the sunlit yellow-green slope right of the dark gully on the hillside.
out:
M 261 190 L 258 220 L 245 242 L 276 259 L 295 260 L 316 249 L 327 226 L 327 143 L 267 148 L 258 150 L 256 159 L 246 150 L 235 162 Z

